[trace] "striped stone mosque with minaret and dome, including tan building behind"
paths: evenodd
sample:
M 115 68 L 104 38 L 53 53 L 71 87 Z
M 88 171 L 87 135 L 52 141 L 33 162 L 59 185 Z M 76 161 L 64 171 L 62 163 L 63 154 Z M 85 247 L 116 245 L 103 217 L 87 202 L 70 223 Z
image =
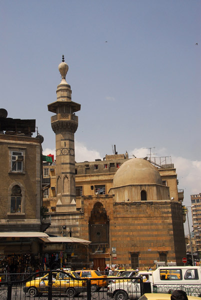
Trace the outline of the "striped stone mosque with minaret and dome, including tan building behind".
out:
M 89 246 L 66 243 L 65 262 L 73 268 L 146 268 L 155 261 L 180 265 L 186 255 L 183 190 L 177 189 L 173 163 L 128 158 L 116 150 L 102 160 L 75 162 L 80 104 L 71 100 L 64 57 L 58 68 L 57 99 L 48 104 L 56 157 L 43 163 L 43 176 L 50 179 L 43 188 L 51 216 L 45 233 L 91 241 Z M 46 243 L 43 251 L 55 251 L 54 245 Z

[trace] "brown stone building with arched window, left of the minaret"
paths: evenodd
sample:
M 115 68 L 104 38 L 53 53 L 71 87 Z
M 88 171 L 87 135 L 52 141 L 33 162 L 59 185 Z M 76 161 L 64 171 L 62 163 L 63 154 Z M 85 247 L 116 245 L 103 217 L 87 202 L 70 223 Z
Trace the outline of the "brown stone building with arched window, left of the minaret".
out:
M 0 112 L 0 232 L 39 232 L 43 139 L 31 136 L 35 120 L 7 118 L 5 109 Z M 0 254 L 12 253 L 13 247 L 15 253 L 38 251 L 30 238 L 14 236 L 0 238 Z

